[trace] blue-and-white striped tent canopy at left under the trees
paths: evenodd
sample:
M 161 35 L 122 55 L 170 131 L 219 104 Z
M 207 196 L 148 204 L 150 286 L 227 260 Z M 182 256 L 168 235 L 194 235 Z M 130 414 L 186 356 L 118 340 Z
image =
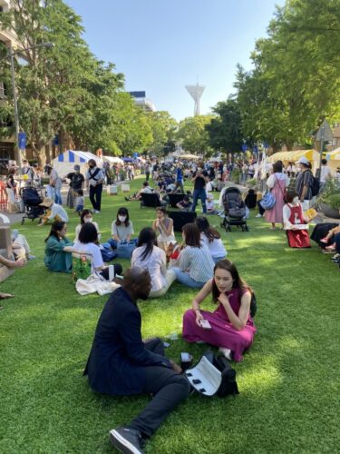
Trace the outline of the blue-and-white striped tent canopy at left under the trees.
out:
M 95 154 L 89 152 L 76 152 L 68 150 L 62 154 L 59 154 L 53 159 L 53 169 L 55 169 L 61 178 L 64 178 L 67 173 L 72 173 L 74 165 L 79 164 L 81 166 L 81 173 L 85 176 L 88 171 L 87 163 L 90 159 L 94 159 L 98 167 L 102 167 L 102 159 Z

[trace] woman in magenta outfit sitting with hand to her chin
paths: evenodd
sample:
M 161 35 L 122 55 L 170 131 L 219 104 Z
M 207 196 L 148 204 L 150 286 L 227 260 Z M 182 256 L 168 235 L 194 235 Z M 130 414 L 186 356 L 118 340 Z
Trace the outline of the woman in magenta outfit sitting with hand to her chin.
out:
M 201 311 L 200 303 L 209 294 L 219 304 L 214 312 Z M 214 277 L 192 301 L 192 309 L 183 316 L 183 338 L 188 342 L 204 341 L 219 347 L 228 360 L 242 360 L 257 331 L 250 318 L 251 291 L 236 266 L 227 259 L 216 263 Z M 210 329 L 201 323 L 209 321 Z

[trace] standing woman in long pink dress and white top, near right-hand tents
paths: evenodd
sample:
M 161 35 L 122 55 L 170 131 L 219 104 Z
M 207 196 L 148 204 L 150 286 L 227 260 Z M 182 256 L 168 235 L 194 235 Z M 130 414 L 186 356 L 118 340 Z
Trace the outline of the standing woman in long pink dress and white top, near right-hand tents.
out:
M 289 178 L 285 173 L 282 173 L 282 169 L 282 161 L 277 161 L 277 163 L 273 164 L 273 173 L 267 179 L 267 187 L 277 201 L 273 208 L 265 212 L 266 221 L 271 222 L 271 230 L 275 230 L 276 223 L 282 224 L 283 228 L 282 209 L 285 204 L 285 192 L 289 184 Z

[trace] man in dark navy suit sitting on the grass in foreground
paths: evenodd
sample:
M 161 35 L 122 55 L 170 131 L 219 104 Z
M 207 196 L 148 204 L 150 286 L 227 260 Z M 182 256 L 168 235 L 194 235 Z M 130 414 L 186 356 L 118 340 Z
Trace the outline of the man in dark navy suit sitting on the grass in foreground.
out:
M 180 366 L 164 357 L 160 339 L 141 340 L 137 300 L 147 300 L 150 291 L 149 271 L 137 266 L 125 271 L 121 288 L 112 292 L 102 311 L 84 371 L 97 392 L 153 396 L 129 425 L 111 430 L 113 446 L 124 453 L 141 453 L 143 439 L 189 395 L 188 380 L 180 375 Z

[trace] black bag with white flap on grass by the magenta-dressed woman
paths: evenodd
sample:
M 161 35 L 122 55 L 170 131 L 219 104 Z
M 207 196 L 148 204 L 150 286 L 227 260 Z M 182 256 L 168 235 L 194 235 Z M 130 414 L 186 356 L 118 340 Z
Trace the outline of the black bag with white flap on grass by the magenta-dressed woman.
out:
M 236 370 L 232 369 L 227 358 L 215 356 L 206 351 L 195 367 L 187 369 L 185 375 L 194 390 L 203 396 L 239 394 L 236 381 Z

